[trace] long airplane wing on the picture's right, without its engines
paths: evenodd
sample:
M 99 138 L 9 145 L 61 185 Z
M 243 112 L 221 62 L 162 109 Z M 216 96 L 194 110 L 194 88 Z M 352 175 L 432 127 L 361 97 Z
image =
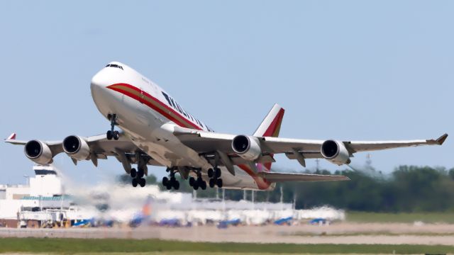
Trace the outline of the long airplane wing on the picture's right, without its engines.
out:
M 223 152 L 236 159 L 238 155 L 233 151 L 232 140 L 236 135 L 221 134 L 192 130 L 188 128 L 175 128 L 175 135 L 179 137 L 184 145 L 191 147 L 200 154 Z M 392 149 L 399 147 L 412 147 L 421 145 L 442 145 L 448 137 L 447 134 L 437 139 L 429 140 L 401 140 L 401 141 L 338 141 L 347 149 L 348 156 L 355 152 L 374 151 L 380 149 Z M 255 137 L 260 142 L 262 157 L 271 157 L 272 154 L 286 154 L 289 159 L 297 159 L 305 166 L 304 159 L 323 158 L 321 146 L 326 140 L 300 140 L 281 137 Z M 337 141 L 336 141 L 337 142 Z M 259 160 L 261 157 L 259 158 Z M 269 159 L 273 162 L 274 159 Z M 237 160 L 240 164 L 244 161 Z

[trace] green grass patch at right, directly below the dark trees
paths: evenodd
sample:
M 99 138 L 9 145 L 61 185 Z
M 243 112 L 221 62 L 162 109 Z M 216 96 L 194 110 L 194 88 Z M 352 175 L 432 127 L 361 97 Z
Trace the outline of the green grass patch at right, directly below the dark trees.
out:
M 421 221 L 425 223 L 450 223 L 454 224 L 454 212 L 347 212 L 348 222 L 402 222 L 413 223 Z

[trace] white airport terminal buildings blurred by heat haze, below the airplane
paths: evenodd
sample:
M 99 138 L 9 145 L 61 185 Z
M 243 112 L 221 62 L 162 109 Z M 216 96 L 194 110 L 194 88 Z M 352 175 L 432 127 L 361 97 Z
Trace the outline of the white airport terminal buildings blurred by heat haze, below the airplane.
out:
M 111 227 L 131 226 L 131 222 L 206 225 L 226 221 L 264 225 L 282 219 L 289 223 L 317 217 L 345 218 L 343 211 L 332 208 L 294 210 L 292 203 L 197 199 L 196 194 L 160 191 L 155 185 L 137 189 L 99 183 L 71 188 L 65 187 L 64 179 L 51 165 L 35 165 L 33 171 L 35 176 L 29 177 L 26 185 L 0 185 L 0 227 Z

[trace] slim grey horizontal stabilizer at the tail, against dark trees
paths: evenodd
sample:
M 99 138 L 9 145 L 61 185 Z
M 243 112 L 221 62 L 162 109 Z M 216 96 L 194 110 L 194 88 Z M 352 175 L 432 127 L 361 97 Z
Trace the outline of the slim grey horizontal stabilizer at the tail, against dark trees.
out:
M 284 182 L 284 181 L 350 181 L 347 176 L 325 175 L 325 174 L 295 174 L 295 173 L 276 173 L 261 172 L 260 175 L 267 181 Z

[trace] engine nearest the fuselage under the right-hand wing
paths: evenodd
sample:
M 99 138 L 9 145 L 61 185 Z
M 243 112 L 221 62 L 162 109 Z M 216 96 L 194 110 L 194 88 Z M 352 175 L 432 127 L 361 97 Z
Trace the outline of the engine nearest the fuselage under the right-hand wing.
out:
M 233 152 L 236 152 L 243 159 L 254 161 L 262 154 L 260 142 L 256 137 L 237 135 L 232 140 Z

